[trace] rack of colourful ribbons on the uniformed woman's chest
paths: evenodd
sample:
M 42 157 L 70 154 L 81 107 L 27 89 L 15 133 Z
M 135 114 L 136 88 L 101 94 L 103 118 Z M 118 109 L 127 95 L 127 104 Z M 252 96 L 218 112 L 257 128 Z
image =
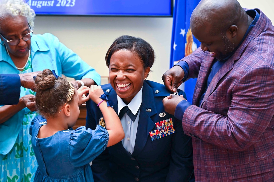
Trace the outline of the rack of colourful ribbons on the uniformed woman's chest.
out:
M 155 123 L 155 125 L 157 129 L 149 132 L 151 141 L 175 133 L 175 129 L 173 127 L 173 122 L 171 118 Z

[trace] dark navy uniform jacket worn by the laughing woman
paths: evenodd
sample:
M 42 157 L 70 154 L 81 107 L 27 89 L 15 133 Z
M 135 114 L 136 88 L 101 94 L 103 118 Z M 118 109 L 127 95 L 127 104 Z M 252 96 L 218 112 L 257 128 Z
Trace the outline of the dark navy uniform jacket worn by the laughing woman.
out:
M 104 93 L 113 101 L 118 113 L 117 94 L 110 84 L 102 85 Z M 185 93 L 181 93 L 185 97 Z M 182 130 L 181 122 L 165 113 L 162 99 L 170 92 L 165 86 L 144 81 L 142 104 L 133 154 L 130 155 L 119 142 L 107 147 L 92 161 L 94 181 L 189 181 L 193 173 L 192 142 Z M 87 105 L 87 128 L 95 129 L 102 113 L 92 101 Z M 160 113 L 165 113 L 160 117 Z M 156 122 L 172 118 L 175 133 L 152 141 L 150 131 L 156 130 Z

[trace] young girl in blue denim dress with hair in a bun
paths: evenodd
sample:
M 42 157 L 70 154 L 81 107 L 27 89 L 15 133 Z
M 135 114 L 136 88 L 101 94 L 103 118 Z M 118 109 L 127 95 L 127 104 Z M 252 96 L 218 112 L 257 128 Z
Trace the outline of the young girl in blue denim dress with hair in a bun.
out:
M 124 138 L 124 131 L 101 86 L 81 87 L 78 92 L 67 80 L 45 69 L 35 78 L 36 105 L 39 113 L 32 121 L 30 133 L 38 169 L 34 181 L 93 181 L 89 163 L 107 146 Z M 82 95 L 89 93 L 83 98 Z M 106 129 L 68 130 L 75 125 L 79 107 L 91 98 L 103 113 Z

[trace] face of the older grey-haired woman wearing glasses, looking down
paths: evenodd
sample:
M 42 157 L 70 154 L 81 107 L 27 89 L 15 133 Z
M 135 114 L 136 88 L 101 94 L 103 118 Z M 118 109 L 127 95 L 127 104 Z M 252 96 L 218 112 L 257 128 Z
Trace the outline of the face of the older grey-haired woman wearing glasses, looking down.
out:
M 7 40 L 13 39 L 21 39 L 26 34 L 30 33 L 30 27 L 28 26 L 27 18 L 24 16 L 15 16 L 15 17 L 7 17 L 4 20 L 0 20 L 1 22 L 1 34 Z M 21 39 L 17 45 L 9 45 L 6 40 L 3 39 L 2 36 L 1 40 L 4 41 L 5 45 L 8 48 L 10 54 L 16 57 L 24 57 L 28 54 L 30 50 L 30 40 L 23 40 Z

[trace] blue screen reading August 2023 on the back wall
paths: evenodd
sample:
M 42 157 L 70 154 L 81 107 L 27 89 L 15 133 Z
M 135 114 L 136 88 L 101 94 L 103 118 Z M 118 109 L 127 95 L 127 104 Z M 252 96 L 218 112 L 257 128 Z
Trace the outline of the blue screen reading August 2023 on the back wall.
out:
M 172 16 L 173 0 L 26 0 L 37 15 Z

